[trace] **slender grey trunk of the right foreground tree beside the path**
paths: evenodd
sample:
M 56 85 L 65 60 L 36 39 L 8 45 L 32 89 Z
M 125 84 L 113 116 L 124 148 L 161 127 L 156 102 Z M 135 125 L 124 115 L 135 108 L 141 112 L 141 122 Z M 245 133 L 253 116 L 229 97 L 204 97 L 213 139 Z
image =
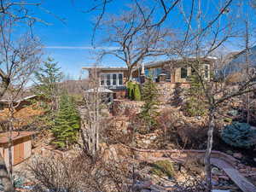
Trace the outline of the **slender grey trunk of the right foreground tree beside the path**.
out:
M 206 182 L 207 191 L 212 191 L 212 166 L 211 166 L 211 153 L 212 153 L 212 141 L 213 141 L 213 131 L 214 131 L 214 111 L 215 108 L 209 110 L 209 122 L 208 122 L 208 132 L 207 132 L 207 151 L 205 155 L 205 169 L 206 169 Z

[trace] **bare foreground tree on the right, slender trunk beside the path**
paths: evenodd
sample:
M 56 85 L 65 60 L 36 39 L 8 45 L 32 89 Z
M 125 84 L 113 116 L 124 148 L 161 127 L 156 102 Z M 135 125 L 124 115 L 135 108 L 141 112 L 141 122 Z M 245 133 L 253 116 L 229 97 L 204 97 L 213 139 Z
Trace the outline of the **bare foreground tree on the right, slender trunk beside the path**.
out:
M 216 81 L 208 81 L 206 78 L 206 70 L 204 68 L 205 59 L 214 55 L 214 51 L 224 47 L 230 39 L 240 37 L 241 32 L 237 30 L 239 22 L 237 22 L 236 11 L 227 15 L 230 12 L 230 6 L 232 1 L 220 3 L 218 9 L 220 10 L 216 16 L 212 18 L 206 18 L 204 11 L 201 9 L 201 0 L 196 1 L 197 9 L 191 7 L 191 13 L 196 13 L 195 19 L 191 19 L 192 15 L 185 17 L 187 23 L 187 32 L 185 32 L 185 38 L 183 46 L 177 48 L 177 55 L 183 58 L 184 64 L 191 67 L 195 71 L 195 75 L 199 79 L 204 96 L 206 98 L 208 106 L 208 133 L 207 133 L 207 152 L 205 155 L 205 168 L 207 172 L 207 191 L 212 190 L 212 176 L 211 176 L 211 152 L 213 142 L 213 131 L 215 127 L 216 116 L 222 103 L 229 102 L 232 98 L 245 95 L 253 91 L 253 84 L 255 84 L 255 74 L 250 78 L 242 79 L 236 86 L 230 86 L 228 82 L 220 81 L 220 77 L 217 76 Z M 192 11 L 192 9 L 194 9 Z M 225 17 L 227 20 L 225 23 L 220 22 Z M 235 20 L 236 18 L 236 20 Z M 193 29 L 191 22 L 197 23 L 197 26 Z M 202 21 L 203 20 L 203 21 Z M 191 61 L 191 57 L 194 59 Z M 224 66 L 226 63 L 218 63 L 220 66 Z M 244 63 L 236 68 L 240 70 L 240 73 L 246 69 Z M 212 65 L 212 72 L 221 70 L 215 70 Z M 234 72 L 231 72 L 234 73 Z M 208 73 L 209 75 L 209 73 Z

